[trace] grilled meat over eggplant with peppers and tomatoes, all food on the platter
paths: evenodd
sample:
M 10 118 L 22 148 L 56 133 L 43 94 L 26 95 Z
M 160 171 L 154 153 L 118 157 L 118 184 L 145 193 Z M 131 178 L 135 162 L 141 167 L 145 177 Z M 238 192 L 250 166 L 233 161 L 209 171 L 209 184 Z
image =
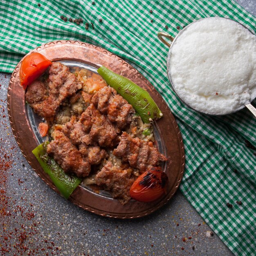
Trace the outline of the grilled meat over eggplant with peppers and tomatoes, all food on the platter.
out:
M 32 152 L 60 193 L 69 198 L 81 184 L 121 204 L 162 197 L 168 177 L 159 164 L 167 157 L 150 123 L 162 112 L 148 92 L 106 67 L 96 74 L 38 54 L 23 59 L 20 81 L 48 138 Z

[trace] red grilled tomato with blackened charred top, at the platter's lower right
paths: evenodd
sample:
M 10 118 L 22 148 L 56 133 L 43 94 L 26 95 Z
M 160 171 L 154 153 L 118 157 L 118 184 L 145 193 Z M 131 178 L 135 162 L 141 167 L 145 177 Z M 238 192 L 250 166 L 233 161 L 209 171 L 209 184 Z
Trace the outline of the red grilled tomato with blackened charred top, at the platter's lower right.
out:
M 166 194 L 168 176 L 160 167 L 141 174 L 130 188 L 130 197 L 139 202 L 152 202 Z

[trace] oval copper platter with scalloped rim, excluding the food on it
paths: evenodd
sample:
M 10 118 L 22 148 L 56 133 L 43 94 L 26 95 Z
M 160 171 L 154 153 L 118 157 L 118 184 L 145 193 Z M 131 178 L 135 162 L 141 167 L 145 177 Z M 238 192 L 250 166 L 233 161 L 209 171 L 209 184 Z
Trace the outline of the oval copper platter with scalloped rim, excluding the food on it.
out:
M 121 205 L 105 193 L 96 193 L 88 187 L 78 186 L 69 200 L 85 210 L 112 218 L 139 218 L 166 204 L 174 195 L 183 177 L 184 146 L 173 114 L 153 85 L 124 60 L 95 45 L 79 41 L 59 40 L 37 47 L 32 52 L 40 52 L 51 61 L 91 67 L 94 72 L 99 65 L 104 65 L 146 89 L 163 113 L 163 117 L 155 121 L 153 126 L 159 151 L 169 158 L 162 165 L 169 178 L 167 194 L 164 197 L 151 203 L 130 200 L 127 204 Z M 25 102 L 25 90 L 20 86 L 19 70 L 22 60 L 15 68 L 9 83 L 7 105 L 11 128 L 18 146 L 31 167 L 48 186 L 58 193 L 49 176 L 43 171 L 31 152 L 42 142 L 42 138 L 37 132 L 36 121 L 32 120 L 33 116 L 29 113 L 30 110 Z

